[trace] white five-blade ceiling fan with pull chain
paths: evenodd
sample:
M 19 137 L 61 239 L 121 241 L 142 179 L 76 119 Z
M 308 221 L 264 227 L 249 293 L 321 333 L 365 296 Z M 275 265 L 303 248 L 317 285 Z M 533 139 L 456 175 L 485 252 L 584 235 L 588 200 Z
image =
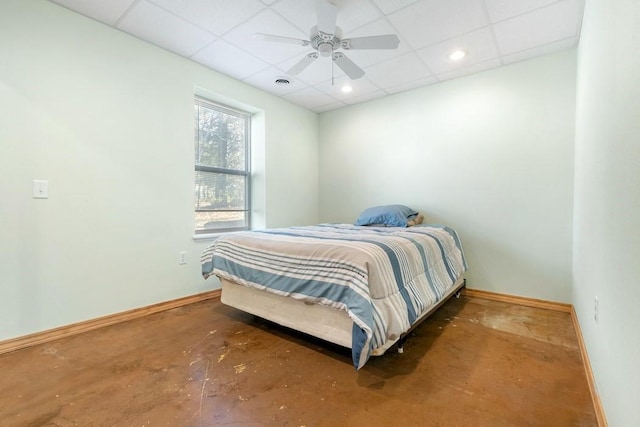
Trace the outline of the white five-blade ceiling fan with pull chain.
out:
M 318 59 L 318 56 L 331 56 L 333 63 L 340 67 L 350 79 L 359 79 L 364 76 L 364 70 L 358 67 L 343 52 L 339 52 L 340 49 L 396 49 L 400 39 L 395 34 L 343 39 L 342 30 L 336 26 L 338 8 L 335 5 L 335 1 L 337 0 L 316 0 L 318 25 L 311 28 L 309 40 L 264 33 L 256 33 L 255 37 L 269 42 L 311 46 L 314 49 L 314 52 L 303 57 L 287 71 L 289 75 L 297 76 Z M 333 68 L 331 78 L 333 84 Z

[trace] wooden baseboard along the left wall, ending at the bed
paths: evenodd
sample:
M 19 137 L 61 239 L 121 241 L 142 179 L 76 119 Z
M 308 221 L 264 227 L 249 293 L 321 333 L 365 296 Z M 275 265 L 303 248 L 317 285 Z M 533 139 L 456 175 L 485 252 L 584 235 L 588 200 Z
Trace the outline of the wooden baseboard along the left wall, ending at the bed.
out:
M 49 329 L 22 337 L 12 338 L 0 341 L 0 354 L 9 353 L 38 344 L 44 344 L 60 338 L 66 338 L 78 335 L 83 332 L 93 331 L 95 329 L 104 328 L 105 326 L 115 325 L 117 323 L 126 322 L 128 320 L 139 319 L 150 314 L 159 313 L 161 311 L 171 310 L 173 308 L 182 307 L 184 305 L 193 304 L 200 301 L 206 301 L 213 298 L 220 298 L 220 290 L 213 290 L 201 294 L 191 295 L 184 298 L 178 298 L 171 301 L 165 301 L 146 307 L 135 308 L 133 310 L 123 311 L 121 313 L 111 314 L 108 316 L 98 317 L 83 322 L 73 323 L 71 325 L 61 326 L 59 328 Z

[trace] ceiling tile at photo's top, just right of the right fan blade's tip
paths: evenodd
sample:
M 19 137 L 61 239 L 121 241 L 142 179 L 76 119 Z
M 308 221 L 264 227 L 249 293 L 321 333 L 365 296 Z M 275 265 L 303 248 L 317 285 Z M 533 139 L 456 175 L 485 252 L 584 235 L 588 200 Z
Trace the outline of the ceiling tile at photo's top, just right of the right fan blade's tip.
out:
M 423 0 L 389 20 L 414 49 L 488 25 L 482 0 Z

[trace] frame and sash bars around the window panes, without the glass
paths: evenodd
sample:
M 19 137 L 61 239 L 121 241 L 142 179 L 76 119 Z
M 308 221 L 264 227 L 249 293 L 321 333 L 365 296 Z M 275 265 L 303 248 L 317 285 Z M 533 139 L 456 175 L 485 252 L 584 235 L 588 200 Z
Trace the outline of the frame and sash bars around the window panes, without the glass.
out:
M 194 97 L 194 107 L 195 108 L 208 108 L 214 111 L 217 111 L 222 114 L 234 116 L 240 118 L 244 122 L 244 150 L 245 150 L 245 158 L 244 158 L 244 170 L 240 169 L 229 169 L 229 168 L 221 168 L 216 166 L 208 166 L 201 165 L 197 163 L 197 158 L 194 155 L 194 172 L 205 172 L 205 173 L 216 173 L 216 174 L 224 174 L 229 176 L 242 176 L 245 178 L 244 185 L 244 209 L 197 209 L 196 200 L 194 197 L 193 206 L 194 206 L 194 221 L 196 219 L 197 212 L 244 212 L 245 215 L 245 225 L 241 227 L 220 227 L 220 228 L 198 228 L 194 226 L 195 236 L 196 238 L 206 238 L 210 235 L 216 235 L 220 233 L 227 233 L 232 231 L 243 231 L 249 230 L 251 228 L 251 116 L 252 114 L 248 111 L 239 110 L 228 105 L 224 105 L 217 101 L 213 101 L 209 98 L 205 98 L 199 95 Z M 195 123 L 195 132 L 194 138 L 198 137 L 199 133 L 199 123 L 197 119 L 198 115 L 196 115 L 196 123 Z M 194 143 L 198 143 L 198 141 L 194 141 Z M 194 145 L 194 149 L 196 146 Z M 195 153 L 194 153 L 195 154 Z M 197 191 L 196 182 L 195 182 L 195 174 L 194 174 L 194 195 Z M 195 225 L 195 224 L 194 224 Z

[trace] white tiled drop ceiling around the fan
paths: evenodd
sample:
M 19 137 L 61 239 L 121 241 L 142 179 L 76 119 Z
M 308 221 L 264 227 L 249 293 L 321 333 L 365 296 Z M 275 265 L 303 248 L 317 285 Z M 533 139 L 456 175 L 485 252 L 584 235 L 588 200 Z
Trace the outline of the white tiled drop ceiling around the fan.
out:
M 365 71 L 360 79 L 321 57 L 288 85 L 275 81 L 311 48 L 254 34 L 308 39 L 316 0 L 50 1 L 324 112 L 574 47 L 585 0 L 332 0 L 343 38 L 397 34 L 399 47 L 344 52 Z M 455 49 L 467 55 L 452 61 Z

